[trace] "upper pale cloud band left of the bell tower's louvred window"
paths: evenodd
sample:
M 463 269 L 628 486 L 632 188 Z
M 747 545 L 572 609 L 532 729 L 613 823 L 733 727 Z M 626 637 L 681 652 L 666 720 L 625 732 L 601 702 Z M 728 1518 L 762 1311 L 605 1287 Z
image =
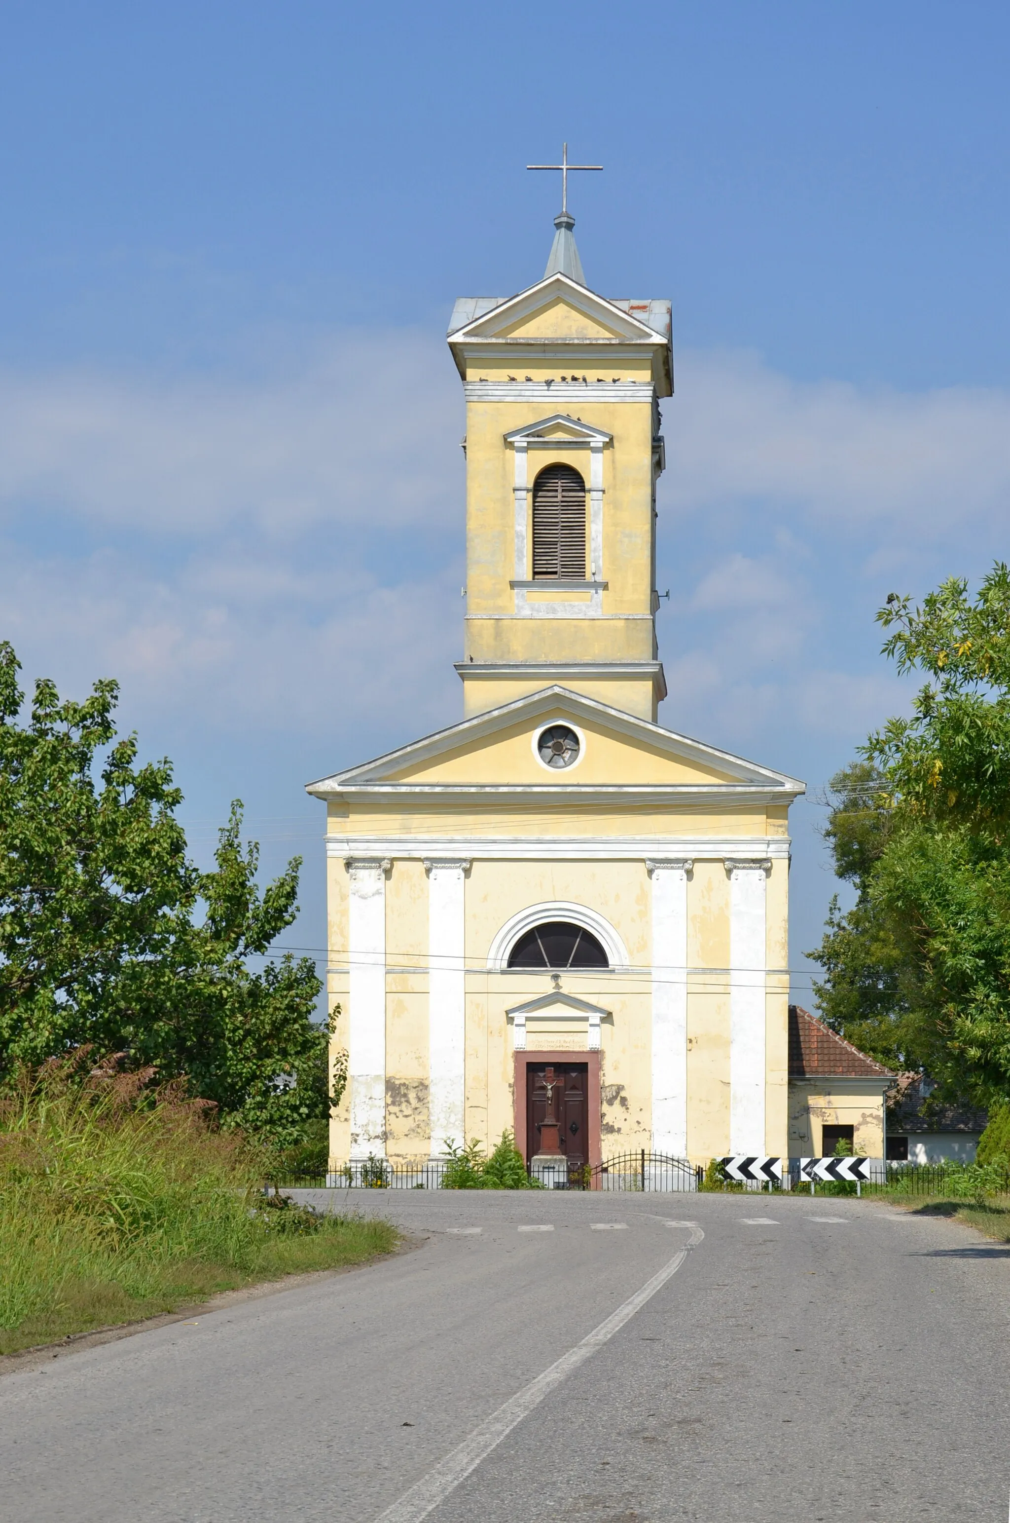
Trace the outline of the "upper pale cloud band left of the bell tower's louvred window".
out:
M 0 504 L 205 536 L 461 521 L 462 401 L 414 332 L 319 344 L 269 381 L 0 373 Z

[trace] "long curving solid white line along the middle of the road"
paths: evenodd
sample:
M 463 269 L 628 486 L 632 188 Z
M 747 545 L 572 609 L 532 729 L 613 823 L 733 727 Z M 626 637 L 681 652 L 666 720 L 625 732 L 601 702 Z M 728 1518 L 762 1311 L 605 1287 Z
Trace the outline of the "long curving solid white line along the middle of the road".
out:
M 470 1438 L 446 1454 L 426 1476 L 421 1476 L 417 1485 L 411 1486 L 399 1502 L 394 1502 L 391 1508 L 380 1512 L 374 1523 L 421 1523 L 421 1518 L 434 1512 L 456 1489 L 459 1482 L 465 1480 L 481 1461 L 487 1459 L 491 1450 L 497 1448 L 502 1439 L 508 1438 L 513 1429 L 540 1406 L 545 1397 L 549 1397 L 580 1365 L 584 1365 L 604 1343 L 608 1343 L 615 1333 L 619 1333 L 625 1322 L 630 1322 L 634 1313 L 640 1311 L 645 1302 L 651 1301 L 656 1292 L 663 1288 L 666 1281 L 677 1273 L 688 1258 L 689 1250 L 697 1247 L 703 1237 L 704 1232 L 701 1228 L 692 1228 L 688 1247 L 681 1247 L 678 1253 L 674 1253 L 657 1275 L 646 1279 L 640 1290 L 628 1296 L 624 1305 L 618 1307 L 613 1316 L 608 1316 L 598 1328 L 593 1328 L 581 1343 L 570 1348 L 567 1354 L 561 1354 L 561 1359 L 555 1360 L 543 1374 L 516 1392 L 497 1412 L 493 1412 L 481 1427 L 473 1430 Z

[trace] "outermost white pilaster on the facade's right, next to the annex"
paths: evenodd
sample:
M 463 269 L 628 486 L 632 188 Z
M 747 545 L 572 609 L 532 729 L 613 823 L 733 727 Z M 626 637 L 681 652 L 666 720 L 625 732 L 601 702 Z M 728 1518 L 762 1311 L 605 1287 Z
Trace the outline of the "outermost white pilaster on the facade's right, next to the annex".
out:
M 765 886 L 768 860 L 730 876 L 730 1153 L 765 1151 Z

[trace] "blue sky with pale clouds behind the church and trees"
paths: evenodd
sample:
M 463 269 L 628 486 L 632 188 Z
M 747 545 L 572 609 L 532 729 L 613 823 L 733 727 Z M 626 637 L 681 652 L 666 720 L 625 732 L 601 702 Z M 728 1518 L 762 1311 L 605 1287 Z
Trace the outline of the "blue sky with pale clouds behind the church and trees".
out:
M 303 783 L 461 713 L 444 329 L 540 276 L 567 139 L 589 283 L 674 303 L 660 719 L 817 793 L 908 704 L 887 592 L 1007 554 L 1008 65 L 995 3 L 11 0 L 0 634 L 122 681 L 198 853 L 233 797 L 304 851 L 319 947 Z

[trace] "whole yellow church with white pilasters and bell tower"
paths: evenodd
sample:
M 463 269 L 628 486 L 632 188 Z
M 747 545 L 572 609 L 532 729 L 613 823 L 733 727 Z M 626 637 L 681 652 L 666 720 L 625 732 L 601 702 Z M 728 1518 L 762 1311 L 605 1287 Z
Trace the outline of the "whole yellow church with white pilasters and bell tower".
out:
M 596 295 L 567 209 L 554 225 L 542 280 L 464 297 L 449 326 L 462 719 L 309 784 L 348 1063 L 333 1170 L 503 1130 L 532 1161 L 545 1122 L 578 1168 L 783 1156 L 806 1124 L 788 1014 L 803 783 L 657 723 L 671 305 Z

